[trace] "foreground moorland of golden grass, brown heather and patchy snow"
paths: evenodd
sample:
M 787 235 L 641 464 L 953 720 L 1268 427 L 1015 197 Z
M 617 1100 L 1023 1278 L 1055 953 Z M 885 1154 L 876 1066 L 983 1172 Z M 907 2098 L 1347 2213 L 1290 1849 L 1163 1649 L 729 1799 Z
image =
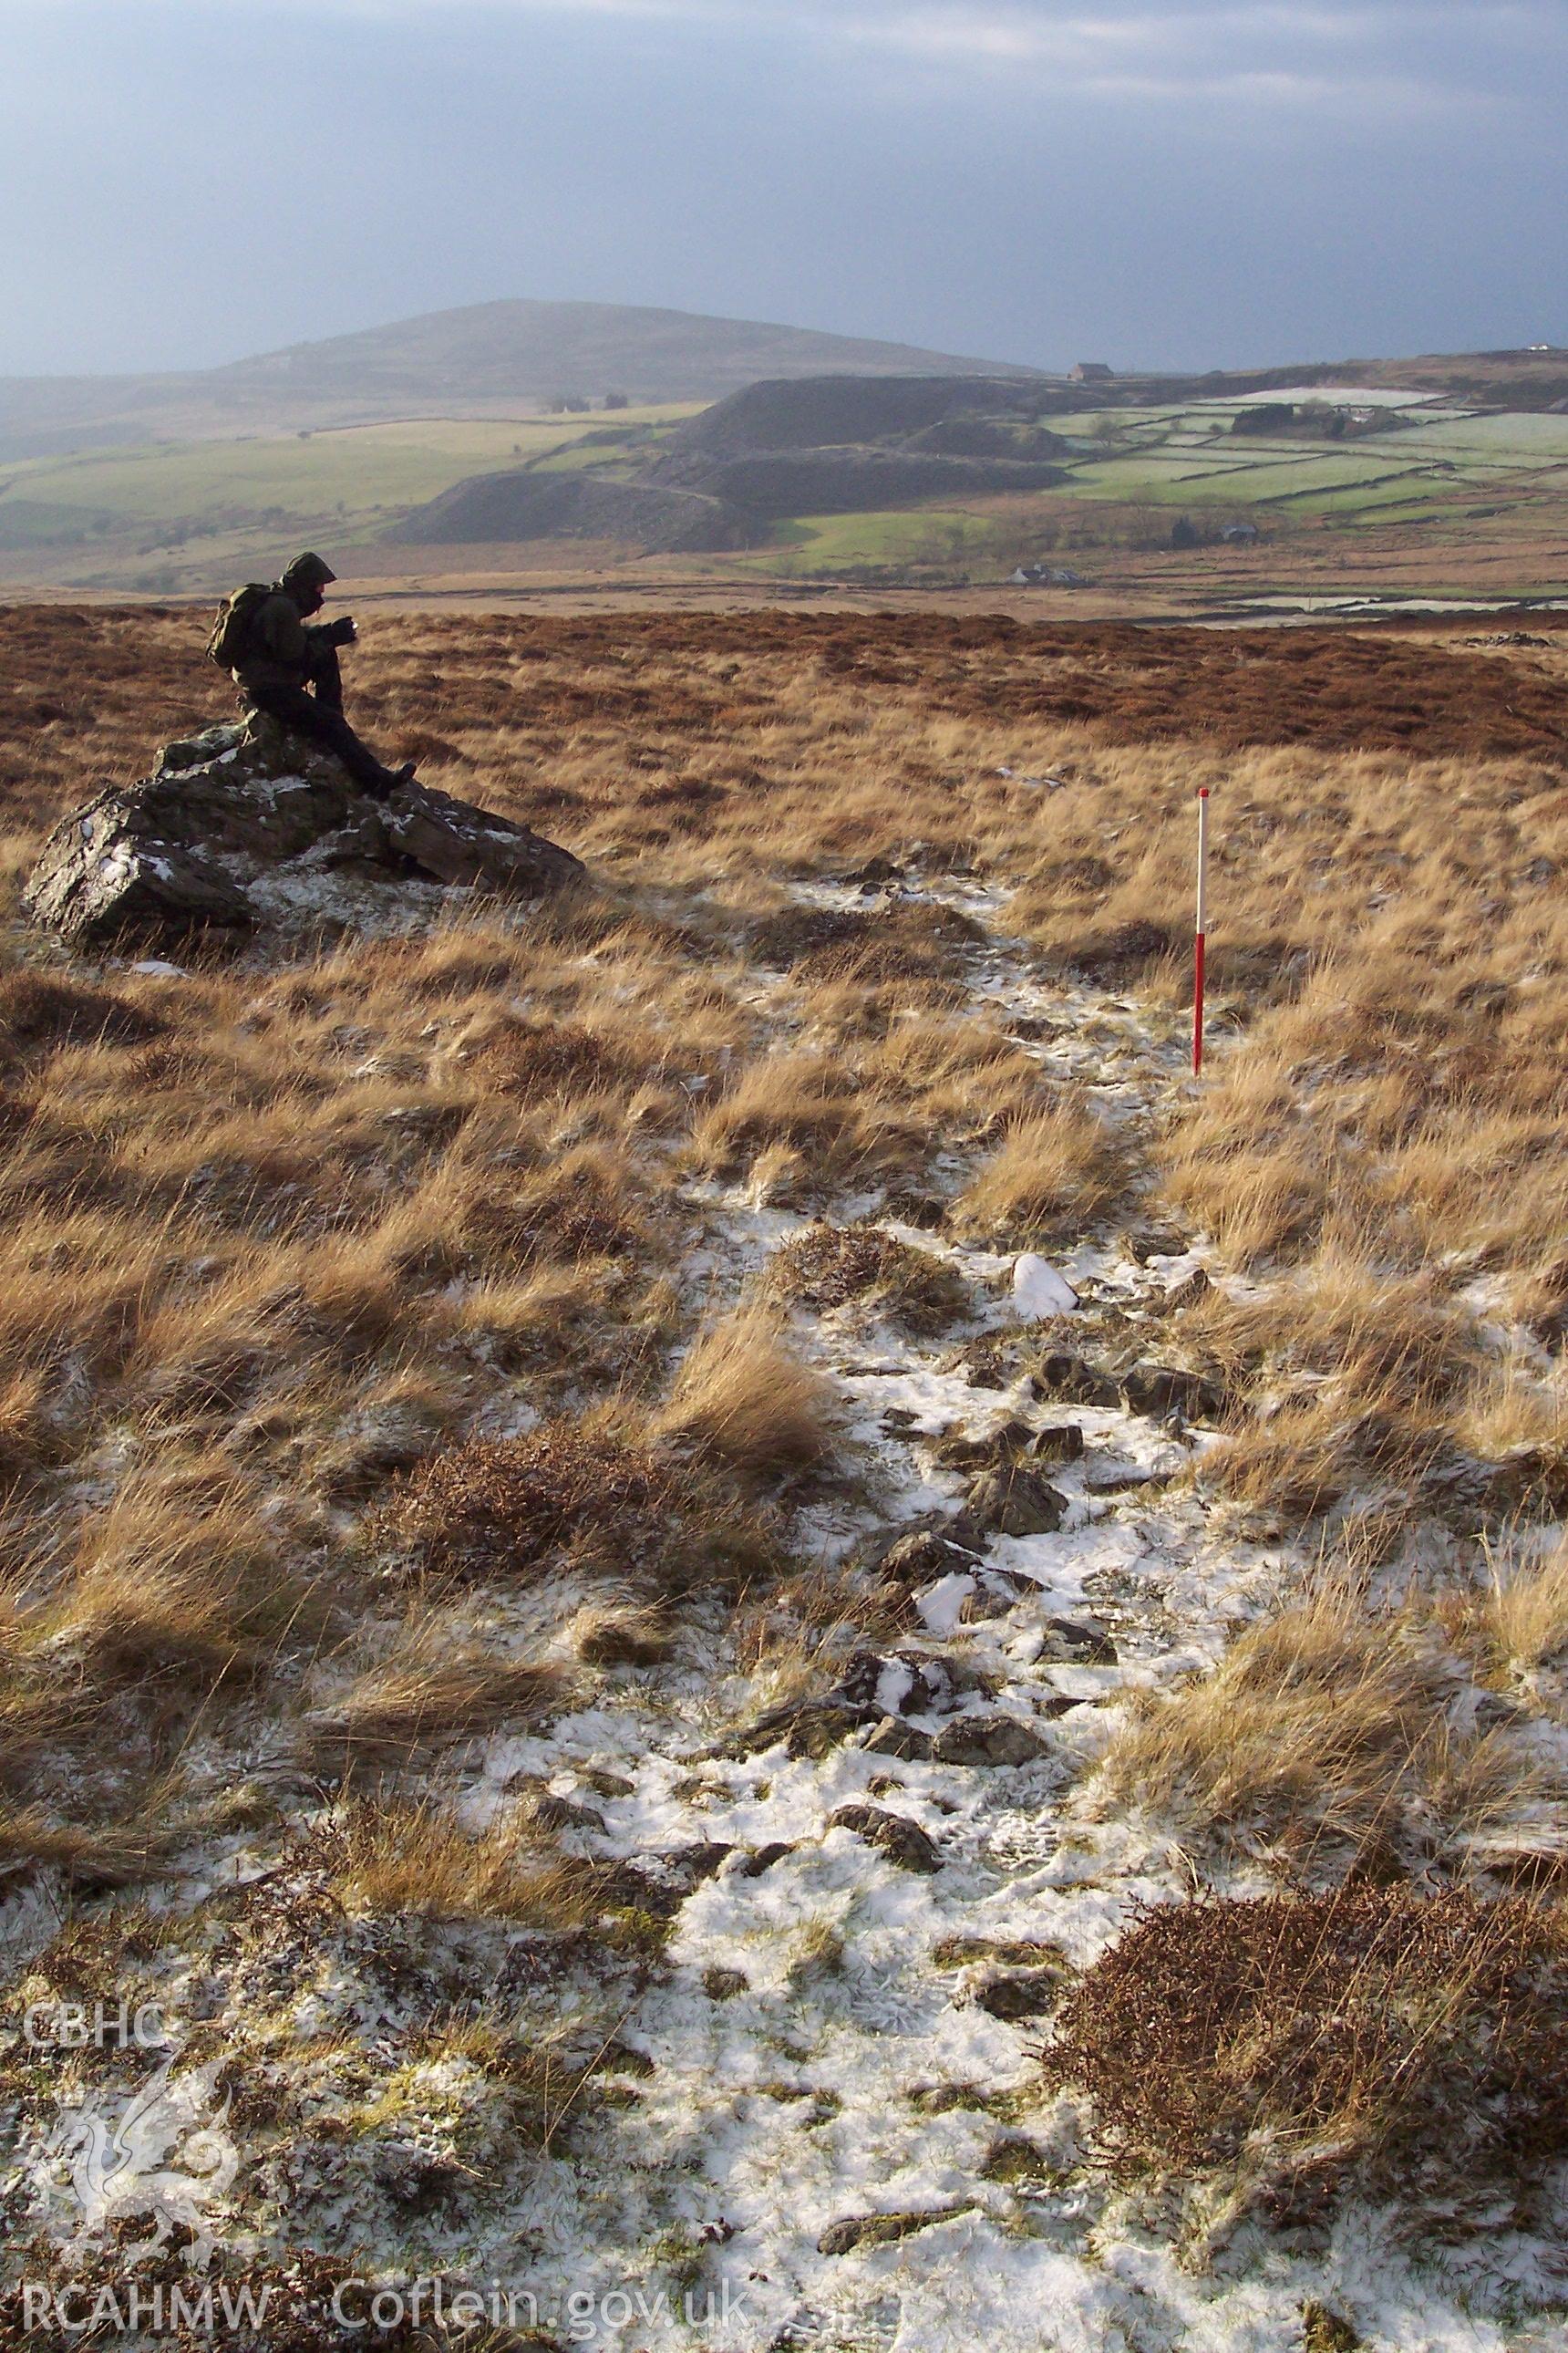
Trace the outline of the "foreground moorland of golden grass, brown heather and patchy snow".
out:
M 592 887 L 68 960 L 200 631 L 0 640 L 5 2341 L 1559 2346 L 1568 640 L 381 621 Z

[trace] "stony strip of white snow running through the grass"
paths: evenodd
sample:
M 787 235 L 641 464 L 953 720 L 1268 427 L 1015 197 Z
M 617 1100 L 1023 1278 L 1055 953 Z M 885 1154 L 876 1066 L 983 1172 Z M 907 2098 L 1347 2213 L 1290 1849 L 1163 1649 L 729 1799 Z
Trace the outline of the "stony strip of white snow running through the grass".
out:
M 863 904 L 823 885 L 802 896 Z M 997 894 L 943 885 L 943 896 L 1001 913 Z M 976 955 L 971 986 L 1004 1014 L 1044 1021 L 1044 1042 L 1020 1035 L 1025 1049 L 1086 1082 L 1112 1115 L 1150 1118 L 1182 1085 L 1175 1021 L 1041 986 L 1001 932 Z M 708 1285 L 755 1275 L 806 1221 L 757 1209 L 743 1188 L 693 1188 L 693 1202 Z M 867 1212 L 875 1202 L 839 1214 Z M 1077 1287 L 1128 1308 L 1159 1299 L 1201 1264 L 1159 1252 L 1138 1264 L 1105 1240 L 1058 1264 L 1013 1261 L 896 1219 L 886 1231 L 954 1264 L 971 1285 L 969 1329 L 999 1334 L 1072 1313 Z M 1378 2353 L 1556 2344 L 1554 2322 L 1507 2318 L 1521 2292 L 1526 2304 L 1552 2294 L 1521 2238 L 1415 2266 L 1399 2217 L 1352 2207 L 1312 2257 L 1244 2228 L 1218 2261 L 1182 2261 L 1159 2217 L 1084 2162 L 1074 2099 L 1041 2101 L 1032 2054 L 1048 2005 L 994 2009 L 1011 2007 L 1013 1988 L 1027 2009 L 1032 1969 L 1088 1965 L 1138 1906 L 1192 1894 L 1175 1840 L 1074 1817 L 1072 1786 L 1128 1689 L 1211 1666 L 1300 1562 L 1211 1529 L 1190 1475 L 1201 1433 L 1173 1435 L 1124 1407 L 1041 1402 L 1027 1384 L 976 1386 L 952 1365 L 952 1337 L 914 1341 L 849 1311 L 797 1318 L 799 1346 L 842 1388 L 846 1438 L 875 1497 L 863 1513 L 818 1513 L 797 1541 L 837 1558 L 875 1529 L 952 1508 L 961 1478 L 940 1468 L 931 1438 L 985 1438 L 1016 1417 L 1077 1426 L 1081 1457 L 1051 1468 L 1067 1497 L 1060 1529 L 997 1537 L 978 1569 L 919 1591 L 919 1624 L 877 1694 L 938 1744 L 1006 1718 L 1034 1755 L 900 1758 L 898 1741 L 865 1746 L 867 1734 L 820 1758 L 792 1755 L 785 1741 L 719 1755 L 750 1694 L 701 1635 L 684 1666 L 628 1673 L 621 1704 L 602 1699 L 548 1741 L 505 1741 L 487 1760 L 477 1812 L 515 1774 L 545 1774 L 597 1814 L 583 1852 L 646 1864 L 726 1849 L 679 1911 L 670 1967 L 621 2028 L 651 2073 L 571 2158 L 541 2165 L 512 2217 L 538 2249 L 529 2275 L 545 2297 L 569 2282 L 611 2292 L 646 2278 L 649 2249 L 675 2233 L 703 2254 L 703 2294 L 722 2311 L 698 2329 L 642 2320 L 635 2341 L 649 2353 L 691 2341 L 745 2353 L 1286 2353 L 1302 2344 L 1314 2301 Z M 1063 1624 L 1107 1640 L 1091 1657 Z M 938 1680 L 931 1699 L 910 1659 L 959 1675 Z M 607 1772 L 623 1784 L 609 1798 L 585 1779 Z M 842 1807 L 865 1802 L 917 1824 L 938 1868 L 905 1868 L 835 1826 Z M 1269 1887 L 1255 1873 L 1225 1892 Z M 886 2228 L 900 2235 L 877 2242 L 875 2228 L 856 2228 L 867 2217 L 893 2217 Z M 505 2271 L 501 2245 L 484 2259 Z

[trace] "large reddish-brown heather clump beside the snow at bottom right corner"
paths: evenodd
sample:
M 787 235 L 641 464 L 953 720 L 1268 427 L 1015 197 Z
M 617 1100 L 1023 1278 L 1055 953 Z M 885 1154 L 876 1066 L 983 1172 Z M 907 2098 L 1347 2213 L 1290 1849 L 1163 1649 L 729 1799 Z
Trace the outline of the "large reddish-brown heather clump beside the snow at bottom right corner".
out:
M 1340 2181 L 1453 2202 L 1568 2132 L 1568 1922 L 1519 1897 L 1171 1904 L 1072 1988 L 1046 2080 L 1121 2174 L 1220 2174 L 1279 2221 Z

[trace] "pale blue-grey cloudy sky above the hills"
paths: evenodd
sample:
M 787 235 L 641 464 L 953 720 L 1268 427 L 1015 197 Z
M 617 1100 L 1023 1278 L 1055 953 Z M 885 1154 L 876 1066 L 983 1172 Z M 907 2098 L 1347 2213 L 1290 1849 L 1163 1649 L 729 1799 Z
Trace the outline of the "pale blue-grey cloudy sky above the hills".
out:
M 0 0 L 0 372 L 543 299 L 1039 365 L 1568 341 L 1568 0 Z

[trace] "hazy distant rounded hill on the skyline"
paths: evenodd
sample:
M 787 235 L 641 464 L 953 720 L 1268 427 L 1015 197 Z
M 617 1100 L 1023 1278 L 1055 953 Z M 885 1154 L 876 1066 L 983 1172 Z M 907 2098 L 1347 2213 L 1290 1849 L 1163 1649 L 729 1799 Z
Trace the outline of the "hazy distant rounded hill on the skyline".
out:
M 162 376 L 0 376 L 0 459 L 233 440 L 395 416 L 496 416 L 559 398 L 722 400 L 759 376 L 1032 376 L 809 327 L 590 301 L 489 301 Z

